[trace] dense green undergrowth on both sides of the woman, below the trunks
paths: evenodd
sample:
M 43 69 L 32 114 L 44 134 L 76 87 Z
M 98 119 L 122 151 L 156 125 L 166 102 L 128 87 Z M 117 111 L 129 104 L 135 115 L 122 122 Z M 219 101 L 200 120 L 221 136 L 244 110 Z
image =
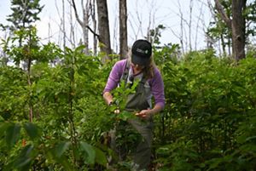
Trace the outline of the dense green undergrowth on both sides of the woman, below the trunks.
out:
M 176 48 L 154 50 L 166 108 L 154 117 L 152 168 L 253 170 L 256 59 L 236 63 L 212 50 L 177 58 Z M 10 49 L 13 60 L 27 60 Z M 0 67 L 0 170 L 110 169 L 108 131 L 117 118 L 102 90 L 116 60 L 103 65 L 82 49 L 48 44 L 26 55 L 29 72 Z M 113 168 L 129 170 L 130 162 Z

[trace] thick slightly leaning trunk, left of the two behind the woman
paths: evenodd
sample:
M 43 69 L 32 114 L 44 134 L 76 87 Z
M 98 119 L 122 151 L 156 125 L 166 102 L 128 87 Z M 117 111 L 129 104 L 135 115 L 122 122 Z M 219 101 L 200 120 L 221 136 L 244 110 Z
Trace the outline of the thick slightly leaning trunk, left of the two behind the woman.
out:
M 98 14 L 98 30 L 101 51 L 106 54 L 103 62 L 108 60 L 108 54 L 111 54 L 110 34 L 108 25 L 108 4 L 107 0 L 96 0 Z

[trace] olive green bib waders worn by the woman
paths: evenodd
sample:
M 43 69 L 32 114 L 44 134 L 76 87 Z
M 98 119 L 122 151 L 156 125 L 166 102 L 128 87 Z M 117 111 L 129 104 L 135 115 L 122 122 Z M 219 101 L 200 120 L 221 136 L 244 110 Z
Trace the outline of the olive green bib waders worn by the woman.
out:
M 126 65 L 128 66 L 128 65 Z M 126 67 L 127 68 L 127 67 Z M 127 69 L 126 73 L 123 74 L 123 79 L 127 79 Z M 126 74 L 126 76 L 125 76 Z M 136 79 L 136 77 L 135 77 Z M 129 94 L 125 106 L 126 111 L 131 111 L 135 113 L 136 111 L 147 110 L 151 108 L 151 91 L 148 82 L 146 82 L 145 77 L 140 77 L 140 81 L 137 85 L 137 90 L 135 94 Z M 152 117 L 148 119 L 143 119 L 137 117 L 136 119 L 128 119 L 130 126 L 141 135 L 141 138 L 137 144 L 137 148 L 134 151 L 133 160 L 135 163 L 135 170 L 148 169 L 151 157 L 151 145 L 153 140 L 153 119 Z M 128 128 L 128 127 L 127 127 Z M 119 128 L 117 128 L 119 131 Z M 114 136 L 114 134 L 113 134 Z M 113 137 L 113 140 L 115 138 Z M 113 149 L 115 148 L 115 142 L 112 143 Z M 118 151 L 120 153 L 121 151 Z

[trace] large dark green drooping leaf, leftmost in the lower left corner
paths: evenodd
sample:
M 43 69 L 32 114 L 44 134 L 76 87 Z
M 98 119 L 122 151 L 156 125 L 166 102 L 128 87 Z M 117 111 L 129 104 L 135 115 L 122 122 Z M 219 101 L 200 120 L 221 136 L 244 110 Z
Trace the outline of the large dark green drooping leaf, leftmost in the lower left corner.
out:
M 11 148 L 17 140 L 19 140 L 20 137 L 20 124 L 18 123 L 12 123 L 9 125 L 9 127 L 6 130 L 6 144 L 9 148 Z

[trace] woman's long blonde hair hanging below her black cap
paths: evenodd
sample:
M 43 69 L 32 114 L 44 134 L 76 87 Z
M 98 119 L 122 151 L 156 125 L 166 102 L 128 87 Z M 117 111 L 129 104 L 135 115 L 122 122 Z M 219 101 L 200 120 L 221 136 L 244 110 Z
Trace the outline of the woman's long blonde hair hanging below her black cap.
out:
M 155 64 L 154 64 L 153 54 L 151 55 L 149 60 L 150 60 L 149 64 L 143 68 L 143 76 L 146 77 L 147 79 L 154 77 Z M 129 50 L 127 54 L 127 61 L 131 64 L 131 50 Z

